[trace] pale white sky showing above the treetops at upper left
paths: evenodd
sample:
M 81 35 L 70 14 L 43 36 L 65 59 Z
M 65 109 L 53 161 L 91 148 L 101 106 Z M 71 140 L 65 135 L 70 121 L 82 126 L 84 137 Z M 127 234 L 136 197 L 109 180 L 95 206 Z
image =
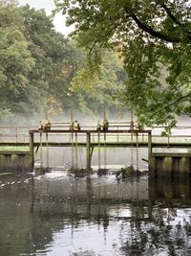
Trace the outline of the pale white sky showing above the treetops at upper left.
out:
M 19 5 L 30 5 L 32 8 L 35 9 L 44 9 L 48 15 L 54 9 L 53 0 L 18 0 Z M 60 32 L 64 35 L 68 35 L 72 29 L 65 26 L 65 18 L 60 13 L 57 13 L 53 19 L 53 24 L 55 26 L 55 30 Z

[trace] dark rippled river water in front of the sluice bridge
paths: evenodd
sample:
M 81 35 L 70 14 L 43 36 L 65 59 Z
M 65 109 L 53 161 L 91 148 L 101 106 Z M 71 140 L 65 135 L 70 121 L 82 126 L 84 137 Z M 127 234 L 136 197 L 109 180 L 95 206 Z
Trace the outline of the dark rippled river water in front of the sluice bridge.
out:
M 190 184 L 0 176 L 0 255 L 191 255 Z

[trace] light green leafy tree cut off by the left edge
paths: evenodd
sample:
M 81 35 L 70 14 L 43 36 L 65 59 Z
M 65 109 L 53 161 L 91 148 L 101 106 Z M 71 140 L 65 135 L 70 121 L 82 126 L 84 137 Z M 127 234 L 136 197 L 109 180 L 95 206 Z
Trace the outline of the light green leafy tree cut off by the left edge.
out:
M 21 12 L 0 3 L 0 121 L 11 116 L 28 86 L 34 63 L 23 33 Z

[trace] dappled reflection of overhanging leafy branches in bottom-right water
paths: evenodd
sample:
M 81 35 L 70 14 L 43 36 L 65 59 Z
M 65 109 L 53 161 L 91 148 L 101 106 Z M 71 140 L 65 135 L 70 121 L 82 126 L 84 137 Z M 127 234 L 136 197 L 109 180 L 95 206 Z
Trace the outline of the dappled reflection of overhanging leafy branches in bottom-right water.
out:
M 149 210 L 148 210 L 149 211 Z M 170 210 L 174 216 L 176 208 Z M 130 221 L 130 235 L 121 246 L 124 255 L 157 255 L 168 252 L 168 255 L 189 255 L 191 244 L 191 225 L 188 221 L 176 218 L 169 221 L 169 209 L 153 207 L 153 219 Z M 157 217 L 157 218 L 156 218 Z M 150 254 L 149 254 L 150 253 Z

